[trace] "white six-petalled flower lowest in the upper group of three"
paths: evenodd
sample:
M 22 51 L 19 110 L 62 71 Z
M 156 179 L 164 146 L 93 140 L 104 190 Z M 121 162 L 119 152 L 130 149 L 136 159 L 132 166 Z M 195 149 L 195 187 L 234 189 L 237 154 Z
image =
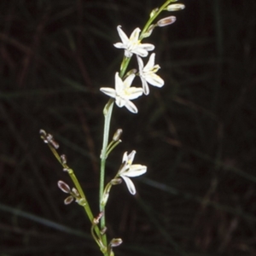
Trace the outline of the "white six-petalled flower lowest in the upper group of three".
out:
M 124 81 L 120 79 L 119 73 L 115 73 L 115 89 L 102 87 L 100 90 L 115 98 L 115 103 L 122 108 L 125 106 L 132 113 L 137 113 L 137 107 L 130 101 L 143 95 L 143 89 L 131 87 L 131 83 L 135 78 L 135 74 L 131 73 Z

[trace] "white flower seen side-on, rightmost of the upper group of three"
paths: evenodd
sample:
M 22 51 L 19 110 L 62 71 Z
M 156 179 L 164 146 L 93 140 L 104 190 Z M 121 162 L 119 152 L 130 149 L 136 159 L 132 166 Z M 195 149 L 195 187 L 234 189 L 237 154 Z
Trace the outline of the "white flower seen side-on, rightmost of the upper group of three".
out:
M 149 93 L 148 84 L 152 84 L 156 87 L 162 87 L 165 84 L 165 81 L 155 74 L 160 69 L 160 66 L 154 65 L 154 56 L 154 53 L 150 55 L 145 67 L 142 58 L 137 56 L 139 75 L 143 83 L 143 92 L 145 95 Z

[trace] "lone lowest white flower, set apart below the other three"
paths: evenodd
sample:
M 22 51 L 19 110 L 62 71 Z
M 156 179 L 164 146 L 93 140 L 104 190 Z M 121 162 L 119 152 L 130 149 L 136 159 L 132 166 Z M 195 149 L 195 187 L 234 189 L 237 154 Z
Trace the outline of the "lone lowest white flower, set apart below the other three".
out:
M 130 177 L 137 177 L 147 172 L 147 166 L 132 165 L 132 161 L 134 159 L 135 154 L 135 150 L 132 150 L 131 153 L 128 155 L 127 152 L 125 152 L 123 156 L 123 164 L 119 170 L 119 177 L 122 177 L 124 179 L 131 195 L 136 194 L 136 189 Z

